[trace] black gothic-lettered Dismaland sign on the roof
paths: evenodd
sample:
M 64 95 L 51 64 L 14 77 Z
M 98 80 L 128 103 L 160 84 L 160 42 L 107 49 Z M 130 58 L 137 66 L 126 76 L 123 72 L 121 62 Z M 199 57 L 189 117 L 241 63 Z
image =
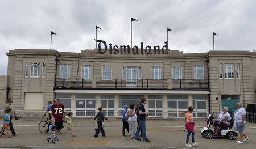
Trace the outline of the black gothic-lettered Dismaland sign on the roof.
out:
M 169 54 L 168 50 L 168 42 L 164 42 L 164 46 L 162 49 L 160 49 L 159 45 L 154 45 L 153 48 L 151 46 L 146 46 L 146 48 L 143 49 L 143 42 L 141 42 L 141 49 L 138 48 L 138 46 L 133 46 L 131 49 L 129 45 L 115 45 L 112 47 L 112 44 L 109 44 L 109 49 L 107 48 L 107 44 L 103 40 L 95 40 L 98 43 L 98 52 L 96 54 L 104 54 L 109 50 L 109 54 L 146 54 L 146 55 L 151 55 L 151 54 Z M 104 48 L 101 48 L 101 44 L 104 45 Z

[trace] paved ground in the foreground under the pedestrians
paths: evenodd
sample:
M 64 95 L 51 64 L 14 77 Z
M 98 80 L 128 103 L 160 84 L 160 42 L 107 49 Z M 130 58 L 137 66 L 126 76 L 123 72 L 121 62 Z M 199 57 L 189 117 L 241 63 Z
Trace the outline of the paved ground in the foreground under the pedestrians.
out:
M 5 146 L 52 146 L 46 141 L 49 135 L 39 133 L 38 127 L 15 127 L 16 135 L 13 138 L 0 138 L 0 144 Z M 60 134 L 59 142 L 53 146 L 101 146 L 101 147 L 177 147 L 185 148 L 186 132 L 177 127 L 149 127 L 147 136 L 151 143 L 135 142 L 132 139 L 122 137 L 122 127 L 105 127 L 107 137 L 93 138 L 94 127 L 73 127 L 76 138 Z M 255 148 L 256 129 L 245 129 L 250 140 L 245 144 L 236 144 L 226 138 L 205 139 L 196 128 L 195 139 L 199 143 L 196 148 Z M 1 148 L 1 147 L 0 147 Z

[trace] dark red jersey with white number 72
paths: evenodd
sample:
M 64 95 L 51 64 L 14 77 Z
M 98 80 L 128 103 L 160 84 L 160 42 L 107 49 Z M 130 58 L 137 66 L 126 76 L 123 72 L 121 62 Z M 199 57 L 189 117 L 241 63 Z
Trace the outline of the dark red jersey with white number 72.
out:
M 55 118 L 55 122 L 62 122 L 65 112 L 66 111 L 63 104 L 53 104 L 51 109 L 49 110 L 49 113 L 52 113 L 53 117 Z

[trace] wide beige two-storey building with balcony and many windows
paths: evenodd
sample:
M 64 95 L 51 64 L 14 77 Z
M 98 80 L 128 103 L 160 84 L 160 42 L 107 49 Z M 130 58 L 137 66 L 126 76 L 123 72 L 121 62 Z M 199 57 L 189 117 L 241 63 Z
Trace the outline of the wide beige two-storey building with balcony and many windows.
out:
M 193 105 L 195 116 L 205 117 L 224 106 L 235 110 L 238 101 L 255 102 L 254 52 L 111 48 L 10 50 L 6 82 L 15 109 L 44 110 L 58 97 L 76 116 L 92 116 L 100 106 L 119 116 L 124 104 L 147 97 L 150 116 L 181 117 Z

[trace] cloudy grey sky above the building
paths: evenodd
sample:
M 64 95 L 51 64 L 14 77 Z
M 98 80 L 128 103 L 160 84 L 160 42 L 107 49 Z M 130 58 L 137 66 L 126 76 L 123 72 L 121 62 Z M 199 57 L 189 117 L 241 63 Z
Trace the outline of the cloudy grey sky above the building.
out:
M 164 45 L 184 53 L 212 50 L 256 50 L 256 1 L 2 1 L 0 0 L 0 75 L 7 74 L 5 52 L 52 49 L 80 52 L 95 48 L 98 39 L 113 45 Z

